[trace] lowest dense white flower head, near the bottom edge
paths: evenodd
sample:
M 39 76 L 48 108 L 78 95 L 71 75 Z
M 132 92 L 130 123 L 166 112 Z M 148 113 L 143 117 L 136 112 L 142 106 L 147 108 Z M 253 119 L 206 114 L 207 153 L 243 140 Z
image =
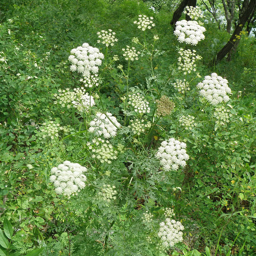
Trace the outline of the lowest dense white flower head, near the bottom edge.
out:
M 160 228 L 158 231 L 158 236 L 161 238 L 161 241 L 164 247 L 173 247 L 175 244 L 183 241 L 184 226 L 180 221 L 171 220 L 166 218 L 165 221 L 160 223 Z

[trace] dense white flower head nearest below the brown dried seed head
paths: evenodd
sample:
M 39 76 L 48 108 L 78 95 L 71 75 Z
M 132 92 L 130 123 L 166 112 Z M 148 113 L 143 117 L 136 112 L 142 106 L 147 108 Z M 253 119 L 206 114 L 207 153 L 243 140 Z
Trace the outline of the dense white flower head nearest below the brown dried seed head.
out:
M 177 171 L 179 166 L 185 167 L 189 156 L 186 151 L 186 143 L 171 138 L 164 140 L 158 148 L 156 158 L 160 159 L 160 164 L 164 171 Z

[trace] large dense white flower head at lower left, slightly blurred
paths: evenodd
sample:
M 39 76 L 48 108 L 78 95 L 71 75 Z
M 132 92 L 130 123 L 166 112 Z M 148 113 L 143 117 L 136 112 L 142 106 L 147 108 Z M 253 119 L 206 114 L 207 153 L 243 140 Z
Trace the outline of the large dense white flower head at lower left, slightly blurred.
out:
M 87 172 L 87 168 L 80 164 L 65 161 L 53 167 L 51 172 L 50 181 L 54 184 L 57 194 L 70 196 L 85 187 L 84 182 L 87 178 L 84 173 Z

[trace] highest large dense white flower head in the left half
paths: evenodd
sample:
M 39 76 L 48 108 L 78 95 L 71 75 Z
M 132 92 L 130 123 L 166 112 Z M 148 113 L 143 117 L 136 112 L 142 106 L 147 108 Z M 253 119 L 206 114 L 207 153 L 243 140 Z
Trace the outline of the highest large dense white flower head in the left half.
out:
M 98 66 L 101 65 L 101 59 L 104 58 L 103 53 L 96 47 L 92 47 L 87 43 L 71 50 L 68 60 L 71 62 L 70 70 L 81 73 L 82 76 L 88 77 L 99 71 Z

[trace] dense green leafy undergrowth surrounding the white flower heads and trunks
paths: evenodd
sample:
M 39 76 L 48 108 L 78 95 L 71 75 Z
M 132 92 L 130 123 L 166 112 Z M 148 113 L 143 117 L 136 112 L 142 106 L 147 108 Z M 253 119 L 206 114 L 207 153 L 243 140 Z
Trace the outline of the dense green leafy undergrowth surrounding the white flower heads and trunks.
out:
M 256 40 L 242 34 L 231 61 L 211 66 L 230 34 L 205 15 L 205 39 L 179 43 L 169 25 L 176 5 L 158 12 L 137 0 L 0 5 L 0 256 L 255 254 Z M 138 29 L 140 14 L 155 26 Z M 97 32 L 108 29 L 118 41 L 106 47 Z M 70 51 L 84 43 L 104 54 L 99 86 L 85 87 L 70 70 Z M 138 60 L 125 60 L 127 45 L 140 52 Z M 178 68 L 180 48 L 202 56 L 196 71 Z M 217 106 L 197 87 L 212 73 L 232 92 Z M 178 91 L 177 79 L 186 80 L 185 90 Z M 83 86 L 95 101 L 89 110 L 61 103 L 60 89 Z M 149 112 L 136 111 L 133 92 Z M 115 136 L 90 130 L 98 112 L 116 117 L 120 125 L 106 119 Z M 186 143 L 189 156 L 177 170 L 156 157 L 170 138 Z M 67 187 L 58 193 L 51 178 L 64 161 L 87 169 L 85 187 L 71 195 Z M 158 235 L 166 217 L 184 226 L 183 241 L 168 248 Z

